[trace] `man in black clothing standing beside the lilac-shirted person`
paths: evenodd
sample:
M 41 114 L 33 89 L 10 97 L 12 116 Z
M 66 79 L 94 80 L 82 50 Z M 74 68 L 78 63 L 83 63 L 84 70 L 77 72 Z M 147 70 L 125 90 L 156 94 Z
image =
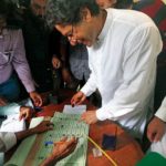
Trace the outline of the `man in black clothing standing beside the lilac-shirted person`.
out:
M 50 30 L 44 23 L 46 0 L 30 0 L 19 3 L 19 17 L 14 23 L 22 29 L 27 59 L 37 91 L 48 92 L 53 87 L 51 55 L 49 52 Z M 22 91 L 23 97 L 27 97 Z

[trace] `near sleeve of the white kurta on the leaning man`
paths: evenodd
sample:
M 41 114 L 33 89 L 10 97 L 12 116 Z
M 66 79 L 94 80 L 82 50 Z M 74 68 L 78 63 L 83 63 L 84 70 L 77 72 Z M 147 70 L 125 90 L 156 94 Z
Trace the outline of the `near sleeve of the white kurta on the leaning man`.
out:
M 162 45 L 159 32 L 154 27 L 139 27 L 131 33 L 124 46 L 123 82 L 114 97 L 96 111 L 98 120 L 116 121 L 132 112 L 136 114 L 134 111 L 143 111 L 143 105 L 149 103 Z

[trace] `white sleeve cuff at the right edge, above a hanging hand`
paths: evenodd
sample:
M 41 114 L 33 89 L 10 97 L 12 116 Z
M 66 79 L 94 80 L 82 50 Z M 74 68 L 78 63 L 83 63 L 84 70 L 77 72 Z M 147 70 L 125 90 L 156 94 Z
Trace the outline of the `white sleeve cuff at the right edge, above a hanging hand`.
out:
M 155 116 L 166 122 L 166 97 L 163 100 L 160 107 L 155 113 Z

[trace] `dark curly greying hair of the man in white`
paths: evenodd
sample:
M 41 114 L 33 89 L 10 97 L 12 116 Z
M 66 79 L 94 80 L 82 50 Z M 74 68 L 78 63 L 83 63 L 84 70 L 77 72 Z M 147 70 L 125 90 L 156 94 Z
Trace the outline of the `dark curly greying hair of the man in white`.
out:
M 50 28 L 55 24 L 76 24 L 82 21 L 82 10 L 87 8 L 92 15 L 100 13 L 95 0 L 49 0 L 46 22 Z

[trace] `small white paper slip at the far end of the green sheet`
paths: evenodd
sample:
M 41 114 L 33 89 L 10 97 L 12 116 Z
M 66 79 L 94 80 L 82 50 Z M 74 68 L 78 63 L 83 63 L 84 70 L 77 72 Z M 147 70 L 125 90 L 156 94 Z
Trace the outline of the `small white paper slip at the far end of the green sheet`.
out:
M 66 114 L 82 114 L 86 111 L 86 105 L 64 105 L 63 113 Z

